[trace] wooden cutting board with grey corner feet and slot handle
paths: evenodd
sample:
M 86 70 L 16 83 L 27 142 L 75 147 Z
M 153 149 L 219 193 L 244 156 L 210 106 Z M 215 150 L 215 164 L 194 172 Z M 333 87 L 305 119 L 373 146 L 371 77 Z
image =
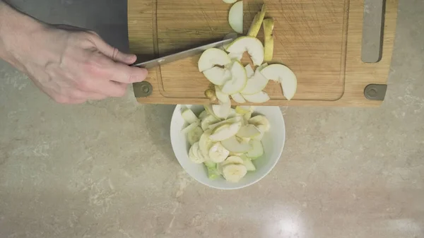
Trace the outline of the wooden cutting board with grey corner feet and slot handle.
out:
M 271 97 L 264 105 L 378 106 L 368 100 L 367 85 L 385 85 L 389 74 L 396 27 L 397 0 L 387 0 L 382 59 L 363 63 L 363 0 L 245 0 L 245 32 L 254 15 L 266 4 L 266 17 L 275 20 L 273 61 L 292 69 L 298 77 L 293 100 L 270 82 Z M 131 52 L 152 59 L 207 42 L 232 32 L 228 25 L 231 4 L 222 0 L 129 0 Z M 367 11 L 365 9 L 365 11 Z M 263 32 L 258 37 L 262 40 Z M 149 70 L 146 81 L 153 93 L 137 97 L 141 103 L 207 104 L 209 82 L 197 70 L 199 56 Z M 246 61 L 247 62 L 247 61 Z M 147 90 L 134 85 L 136 95 Z

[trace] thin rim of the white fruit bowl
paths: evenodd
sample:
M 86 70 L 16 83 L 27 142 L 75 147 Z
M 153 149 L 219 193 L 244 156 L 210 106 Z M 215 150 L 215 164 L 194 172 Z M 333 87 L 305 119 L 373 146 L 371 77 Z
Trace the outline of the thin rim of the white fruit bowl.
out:
M 175 155 L 175 157 L 177 158 L 177 160 L 178 160 L 178 163 L 179 163 L 179 166 L 181 166 L 182 167 L 182 169 L 184 169 L 184 171 L 185 172 L 187 172 L 187 174 L 189 174 L 190 175 L 190 177 L 192 177 L 194 180 L 196 180 L 197 182 L 199 182 L 199 183 L 201 183 L 201 184 L 204 184 L 204 185 L 206 185 L 206 186 L 208 186 L 208 187 L 211 187 L 211 188 L 213 188 L 213 189 L 220 189 L 220 190 L 235 190 L 235 189 L 243 189 L 243 188 L 245 188 L 245 187 L 247 187 L 247 186 L 250 186 L 250 185 L 252 185 L 252 184 L 255 184 L 255 183 L 257 183 L 257 182 L 259 182 L 261 179 L 263 179 L 266 175 L 268 175 L 271 171 L 272 171 L 272 169 L 277 165 L 277 163 L 278 163 L 278 161 L 280 160 L 280 158 L 281 158 L 281 155 L 283 154 L 283 150 L 284 150 L 284 145 L 285 145 L 285 121 L 284 121 L 284 117 L 283 117 L 283 112 L 281 112 L 281 109 L 280 109 L 280 107 L 278 107 L 278 106 L 254 106 L 254 107 L 274 107 L 274 108 L 276 108 L 276 109 L 278 109 L 278 112 L 280 112 L 278 115 L 279 115 L 279 117 L 281 117 L 281 121 L 283 122 L 283 128 L 284 128 L 284 135 L 283 135 L 283 145 L 281 146 L 281 148 L 280 148 L 280 150 L 278 151 L 278 157 L 277 157 L 277 159 L 273 162 L 273 164 L 271 165 L 271 167 L 269 168 L 269 170 L 266 172 L 266 173 L 264 173 L 264 174 L 262 174 L 260 177 L 258 177 L 257 179 L 254 179 L 254 180 L 252 180 L 252 182 L 249 182 L 249 183 L 247 183 L 247 184 L 244 184 L 244 185 L 240 185 L 240 186 L 235 186 L 235 187 L 231 187 L 231 188 L 223 188 L 223 187 L 220 187 L 220 186 L 213 186 L 213 185 L 211 185 L 211 184 L 206 184 L 205 182 L 201 182 L 199 179 L 197 179 L 196 177 L 194 177 L 189 171 L 188 171 L 188 169 L 185 169 L 184 168 L 184 166 L 181 164 L 181 162 L 180 162 L 180 159 L 179 159 L 179 157 L 177 156 L 177 154 L 175 153 L 175 147 L 177 146 L 177 145 L 175 145 L 174 143 L 176 143 L 176 141 L 174 141 L 174 140 L 172 140 L 172 121 L 174 121 L 174 117 L 176 117 L 176 113 L 177 112 L 180 112 L 180 109 L 181 109 L 181 107 L 182 106 L 185 106 L 185 107 L 187 107 L 187 108 L 191 108 L 192 106 L 201 106 L 201 105 L 181 105 L 181 104 L 179 104 L 179 105 L 177 105 L 176 107 L 175 107 L 175 109 L 174 109 L 174 112 L 172 112 L 172 117 L 171 117 L 171 122 L 170 122 L 170 141 L 171 141 L 171 146 L 172 146 L 172 151 L 174 152 L 174 155 Z M 176 133 L 176 132 L 175 132 Z

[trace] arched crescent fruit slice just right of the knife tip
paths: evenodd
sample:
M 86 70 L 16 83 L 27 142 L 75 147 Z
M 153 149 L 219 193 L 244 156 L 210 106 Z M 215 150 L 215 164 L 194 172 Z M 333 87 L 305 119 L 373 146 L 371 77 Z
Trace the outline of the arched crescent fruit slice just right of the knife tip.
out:
M 227 47 L 227 51 L 233 54 L 247 52 L 255 66 L 260 66 L 264 61 L 264 45 L 256 37 L 238 37 Z

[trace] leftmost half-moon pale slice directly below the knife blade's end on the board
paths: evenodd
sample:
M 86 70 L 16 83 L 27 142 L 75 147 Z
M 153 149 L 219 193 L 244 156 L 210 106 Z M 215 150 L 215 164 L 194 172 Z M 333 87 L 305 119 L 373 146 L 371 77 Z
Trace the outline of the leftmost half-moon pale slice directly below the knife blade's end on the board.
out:
M 225 66 L 230 64 L 231 59 L 222 49 L 206 49 L 200 56 L 198 61 L 199 71 L 203 72 L 206 69 L 211 69 L 213 66 Z

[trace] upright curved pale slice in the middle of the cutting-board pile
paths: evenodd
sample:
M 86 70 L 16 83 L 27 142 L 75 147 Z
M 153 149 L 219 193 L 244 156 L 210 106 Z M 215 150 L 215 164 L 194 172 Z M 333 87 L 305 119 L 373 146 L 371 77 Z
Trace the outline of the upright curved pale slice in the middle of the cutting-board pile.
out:
M 245 88 L 247 82 L 245 67 L 243 67 L 239 61 L 232 63 L 231 76 L 231 80 L 227 81 L 227 83 L 223 85 L 223 88 L 221 88 L 221 91 L 228 95 L 238 93 Z

